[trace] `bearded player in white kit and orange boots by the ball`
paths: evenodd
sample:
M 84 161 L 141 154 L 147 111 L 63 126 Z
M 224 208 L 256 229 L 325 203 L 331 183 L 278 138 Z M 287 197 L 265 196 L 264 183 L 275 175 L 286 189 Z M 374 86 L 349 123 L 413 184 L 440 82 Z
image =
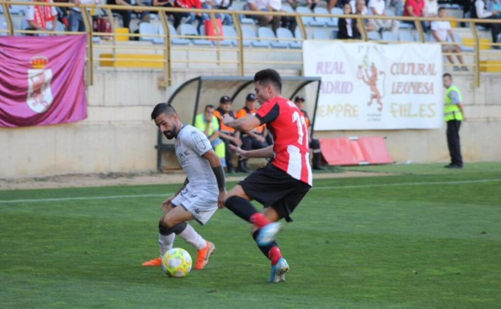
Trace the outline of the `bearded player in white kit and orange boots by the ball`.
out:
M 172 248 L 175 235 L 197 250 L 195 269 L 203 269 L 214 251 L 214 244 L 205 240 L 189 220 L 205 224 L 223 206 L 226 197 L 224 171 L 205 134 L 190 125 L 183 125 L 175 109 L 167 103 L 155 106 L 151 119 L 167 139 L 176 139 L 174 148 L 186 180 L 176 194 L 162 203 L 164 213 L 158 225 L 160 256 Z M 144 266 L 160 266 L 161 257 L 144 262 Z

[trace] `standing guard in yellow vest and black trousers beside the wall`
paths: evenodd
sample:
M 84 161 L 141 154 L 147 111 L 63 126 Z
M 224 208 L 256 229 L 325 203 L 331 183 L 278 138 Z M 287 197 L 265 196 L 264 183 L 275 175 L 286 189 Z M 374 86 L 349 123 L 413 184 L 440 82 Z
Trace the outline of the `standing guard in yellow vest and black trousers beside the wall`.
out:
M 450 164 L 446 168 L 462 168 L 463 159 L 461 157 L 461 145 L 459 143 L 459 127 L 461 121 L 465 120 L 463 98 L 459 89 L 452 85 L 452 76 L 445 73 L 442 76 L 443 87 L 445 87 L 445 106 L 443 109 L 444 119 L 447 123 L 447 146 L 449 147 Z

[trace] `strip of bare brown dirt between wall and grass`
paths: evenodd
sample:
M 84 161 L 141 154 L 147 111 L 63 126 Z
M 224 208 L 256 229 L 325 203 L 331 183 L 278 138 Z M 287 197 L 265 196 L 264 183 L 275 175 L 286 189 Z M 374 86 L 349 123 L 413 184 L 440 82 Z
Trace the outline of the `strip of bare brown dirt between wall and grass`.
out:
M 341 177 L 368 177 L 393 175 L 389 173 L 372 172 L 338 172 L 338 173 L 314 173 L 313 179 L 341 178 Z M 228 181 L 242 180 L 246 175 L 227 175 Z M 17 189 L 51 189 L 51 188 L 75 188 L 75 187 L 101 187 L 122 185 L 149 185 L 182 183 L 185 179 L 182 171 L 169 171 L 165 173 L 101 173 L 101 174 L 70 174 L 50 177 L 0 179 L 0 190 Z

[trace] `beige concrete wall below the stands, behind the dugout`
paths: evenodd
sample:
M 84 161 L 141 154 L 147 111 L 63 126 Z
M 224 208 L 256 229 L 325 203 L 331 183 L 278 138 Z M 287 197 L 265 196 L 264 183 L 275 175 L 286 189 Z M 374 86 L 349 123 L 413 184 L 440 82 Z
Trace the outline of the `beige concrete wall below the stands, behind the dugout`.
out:
M 249 69 L 248 75 L 253 70 Z M 299 75 L 297 70 L 282 71 Z M 148 172 L 156 170 L 156 127 L 152 107 L 167 101 L 187 79 L 200 75 L 231 75 L 233 69 L 178 69 L 173 86 L 157 88 L 161 71 L 96 68 L 94 85 L 88 88 L 88 118 L 84 121 L 43 127 L 0 128 L 0 178 L 40 177 L 70 173 Z M 472 75 L 455 76 L 463 92 L 468 121 L 461 127 L 464 159 L 501 159 L 501 76 L 484 74 L 481 87 L 472 86 Z M 204 98 L 213 101 L 217 98 Z M 192 102 L 177 107 L 192 110 Z M 241 103 L 235 104 L 235 109 Z M 191 119 L 184 119 L 190 122 Z M 446 162 L 445 128 L 438 130 L 328 131 L 316 137 L 386 136 L 397 162 Z M 177 166 L 165 154 L 164 165 Z

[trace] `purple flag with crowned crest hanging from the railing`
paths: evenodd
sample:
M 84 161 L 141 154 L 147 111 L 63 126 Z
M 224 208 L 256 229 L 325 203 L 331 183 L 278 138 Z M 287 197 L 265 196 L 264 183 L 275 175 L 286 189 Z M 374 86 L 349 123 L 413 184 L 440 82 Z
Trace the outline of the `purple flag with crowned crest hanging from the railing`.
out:
M 0 127 L 87 118 L 85 35 L 0 37 Z

